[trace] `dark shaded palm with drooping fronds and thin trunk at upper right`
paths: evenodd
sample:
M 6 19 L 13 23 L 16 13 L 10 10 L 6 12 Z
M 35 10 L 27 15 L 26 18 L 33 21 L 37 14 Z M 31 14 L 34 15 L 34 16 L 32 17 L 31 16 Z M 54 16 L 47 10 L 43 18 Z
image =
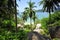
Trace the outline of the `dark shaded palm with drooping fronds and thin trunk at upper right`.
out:
M 49 13 L 49 24 L 51 24 L 51 12 L 54 12 L 59 7 L 60 0 L 42 0 L 40 4 L 43 4 L 43 11 Z

